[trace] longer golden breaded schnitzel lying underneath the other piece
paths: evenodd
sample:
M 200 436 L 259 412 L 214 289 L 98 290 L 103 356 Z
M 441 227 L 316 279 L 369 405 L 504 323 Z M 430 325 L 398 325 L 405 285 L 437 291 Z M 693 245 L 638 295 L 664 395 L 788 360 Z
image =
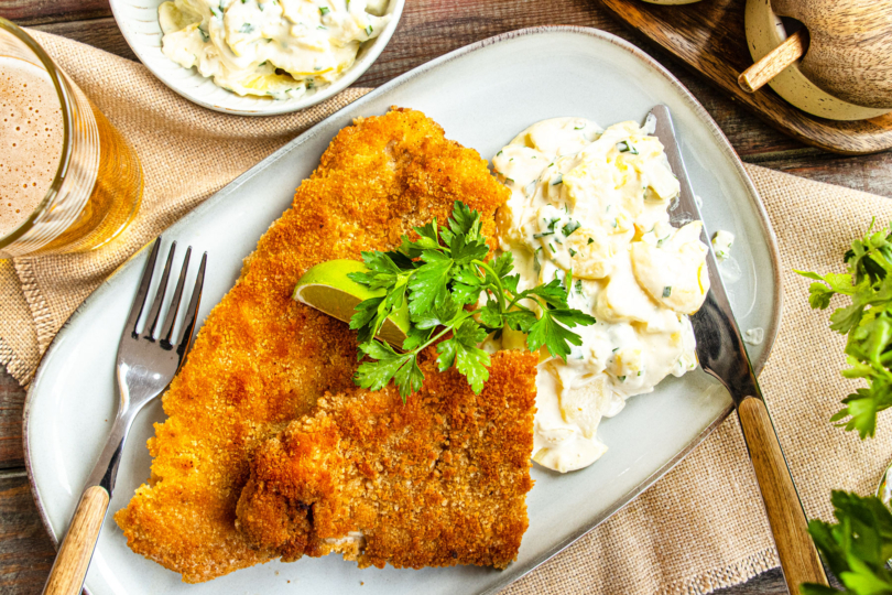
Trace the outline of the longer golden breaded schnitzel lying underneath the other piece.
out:
M 418 111 L 341 130 L 164 394 L 168 418 L 149 441 L 152 476 L 115 516 L 128 545 L 189 583 L 273 558 L 236 529 L 250 454 L 325 392 L 351 390 L 357 367 L 356 334 L 292 300 L 295 283 L 314 264 L 391 249 L 413 226 L 445 221 L 457 199 L 494 237 L 493 213 L 507 197 L 476 151 Z

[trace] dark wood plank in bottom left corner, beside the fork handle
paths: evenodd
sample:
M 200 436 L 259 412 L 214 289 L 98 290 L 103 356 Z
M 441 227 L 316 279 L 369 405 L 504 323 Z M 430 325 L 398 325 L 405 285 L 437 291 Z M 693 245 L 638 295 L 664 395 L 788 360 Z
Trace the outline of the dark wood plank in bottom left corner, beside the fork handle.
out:
M 40 593 L 55 553 L 24 470 L 0 472 L 0 593 Z

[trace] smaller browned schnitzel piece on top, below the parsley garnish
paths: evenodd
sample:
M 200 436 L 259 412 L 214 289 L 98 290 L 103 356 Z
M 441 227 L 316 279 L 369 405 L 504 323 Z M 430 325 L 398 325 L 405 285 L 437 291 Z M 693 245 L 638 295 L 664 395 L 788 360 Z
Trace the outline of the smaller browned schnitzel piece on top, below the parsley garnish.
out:
M 285 562 L 502 569 L 526 531 L 539 357 L 499 351 L 480 394 L 422 364 L 422 390 L 326 394 L 254 453 L 238 526 Z

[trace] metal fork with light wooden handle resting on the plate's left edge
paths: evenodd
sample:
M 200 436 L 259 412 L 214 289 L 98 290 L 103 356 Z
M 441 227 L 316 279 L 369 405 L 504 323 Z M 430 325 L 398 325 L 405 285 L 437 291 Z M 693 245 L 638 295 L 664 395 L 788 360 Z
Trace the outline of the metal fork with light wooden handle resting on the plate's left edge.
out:
M 195 286 L 192 290 L 192 299 L 186 310 L 180 340 L 171 340 L 192 255 L 192 247 L 189 247 L 186 250 L 167 315 L 161 331 L 155 333 L 176 242 L 171 246 L 167 255 L 161 282 L 149 314 L 145 316 L 144 329 L 142 333 L 138 332 L 138 324 L 142 311 L 145 309 L 149 285 L 152 282 L 160 248 L 161 238 L 159 237 L 152 246 L 152 252 L 145 263 L 145 270 L 142 273 L 140 286 L 133 299 L 133 305 L 130 307 L 130 315 L 127 317 L 121 343 L 118 346 L 116 377 L 121 398 L 118 415 L 111 426 L 111 433 L 102 448 L 102 454 L 99 455 L 99 459 L 87 479 L 80 502 L 72 518 L 65 540 L 59 547 L 50 577 L 46 580 L 43 593 L 47 595 L 78 595 L 80 593 L 96 541 L 99 538 L 99 530 L 115 490 L 118 465 L 133 419 L 145 403 L 161 394 L 171 383 L 180 366 L 183 365 L 195 332 L 196 315 L 202 301 L 202 285 L 205 281 L 207 252 L 202 257 L 202 266 L 198 268 L 198 277 L 195 279 Z

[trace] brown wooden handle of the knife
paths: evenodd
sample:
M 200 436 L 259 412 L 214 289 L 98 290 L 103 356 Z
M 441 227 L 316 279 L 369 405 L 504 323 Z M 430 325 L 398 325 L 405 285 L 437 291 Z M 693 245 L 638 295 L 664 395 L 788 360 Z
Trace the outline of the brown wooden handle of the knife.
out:
M 791 595 L 798 595 L 802 583 L 827 585 L 827 575 L 808 536 L 808 521 L 765 403 L 761 399 L 747 397 L 738 405 L 737 412 L 762 490 L 787 589 Z

